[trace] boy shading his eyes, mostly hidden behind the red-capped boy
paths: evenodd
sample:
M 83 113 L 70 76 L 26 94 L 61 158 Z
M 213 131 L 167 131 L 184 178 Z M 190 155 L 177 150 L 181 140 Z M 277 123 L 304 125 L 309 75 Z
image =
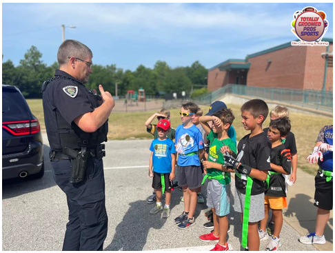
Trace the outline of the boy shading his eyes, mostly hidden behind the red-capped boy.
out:
M 156 112 L 152 114 L 147 121 L 145 121 L 145 127 L 147 128 L 147 132 L 152 134 L 154 136 L 154 139 L 157 139 L 159 137 L 159 133 L 156 129 L 155 124 L 152 124 L 152 121 L 154 121 L 154 118 L 157 118 L 157 121 L 160 121 L 161 119 L 166 119 L 170 122 L 170 111 L 165 110 L 164 108 L 160 110 L 159 112 Z M 174 142 L 174 138 L 176 136 L 176 130 L 174 128 L 170 128 L 170 131 L 166 133 L 166 136 L 168 139 L 172 140 Z M 152 195 L 148 197 L 147 203 L 152 204 L 156 201 L 156 192 L 152 192 Z

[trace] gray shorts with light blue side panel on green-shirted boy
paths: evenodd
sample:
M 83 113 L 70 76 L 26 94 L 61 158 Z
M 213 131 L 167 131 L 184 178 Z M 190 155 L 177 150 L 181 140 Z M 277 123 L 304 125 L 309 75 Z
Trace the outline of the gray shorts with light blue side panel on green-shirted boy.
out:
M 230 199 L 226 185 L 214 179 L 207 179 L 207 207 L 214 208 L 216 215 L 225 216 L 230 212 Z

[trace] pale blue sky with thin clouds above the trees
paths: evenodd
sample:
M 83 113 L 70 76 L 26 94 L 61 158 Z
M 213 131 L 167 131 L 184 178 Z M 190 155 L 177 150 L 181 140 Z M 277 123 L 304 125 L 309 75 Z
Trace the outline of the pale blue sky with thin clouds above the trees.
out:
M 296 10 L 314 6 L 327 14 L 333 38 L 332 3 L 3 3 L 3 62 L 18 65 L 35 45 L 47 65 L 57 61 L 65 39 L 93 52 L 93 63 L 136 70 L 166 61 L 172 68 L 200 61 L 205 68 L 244 59 L 296 39 Z

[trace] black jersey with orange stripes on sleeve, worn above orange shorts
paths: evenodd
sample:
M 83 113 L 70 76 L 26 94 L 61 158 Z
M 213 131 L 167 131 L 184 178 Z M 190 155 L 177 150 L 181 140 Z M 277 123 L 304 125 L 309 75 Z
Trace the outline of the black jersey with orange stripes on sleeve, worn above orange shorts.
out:
M 271 149 L 271 163 L 283 167 L 285 172 L 291 174 L 291 153 L 284 144 Z M 270 170 L 276 172 L 274 170 Z M 265 191 L 266 196 L 286 196 L 285 177 L 283 174 L 270 175 L 269 188 Z

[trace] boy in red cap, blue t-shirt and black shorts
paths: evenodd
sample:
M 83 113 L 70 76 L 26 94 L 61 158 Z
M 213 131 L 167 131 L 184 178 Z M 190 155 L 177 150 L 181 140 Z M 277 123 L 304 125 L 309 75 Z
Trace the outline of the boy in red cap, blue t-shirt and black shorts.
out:
M 149 176 L 153 178 L 152 188 L 156 190 L 156 205 L 150 210 L 150 214 L 156 214 L 164 209 L 163 218 L 170 216 L 171 188 L 176 165 L 174 142 L 166 136 L 170 129 L 170 122 L 167 119 L 161 119 L 156 125 L 159 136 L 150 145 Z M 163 208 L 161 198 L 164 192 L 166 196 Z

